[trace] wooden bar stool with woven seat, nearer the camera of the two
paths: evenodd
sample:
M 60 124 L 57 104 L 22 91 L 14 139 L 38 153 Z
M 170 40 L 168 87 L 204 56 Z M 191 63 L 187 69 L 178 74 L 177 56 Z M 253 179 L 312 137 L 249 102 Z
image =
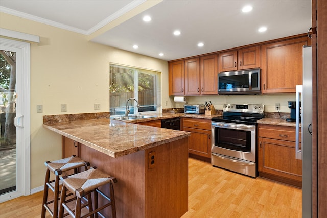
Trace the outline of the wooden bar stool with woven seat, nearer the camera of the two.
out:
M 63 176 L 60 178 L 63 182 L 61 198 L 60 198 L 60 207 L 59 207 L 59 218 L 64 216 L 64 210 L 66 209 L 68 213 L 76 218 L 81 217 L 81 209 L 85 206 L 88 206 L 89 212 L 82 217 L 98 217 L 100 214 L 101 217 L 105 217 L 100 211 L 111 205 L 112 217 L 116 217 L 116 207 L 114 201 L 114 192 L 113 184 L 117 182 L 117 179 L 113 176 L 103 173 L 97 167 L 91 167 L 88 171 L 84 171 L 78 174 L 71 176 Z M 110 187 L 110 198 L 101 192 L 98 187 L 109 184 Z M 71 200 L 66 201 L 66 191 L 67 189 L 76 196 L 75 208 L 71 209 L 67 206 L 67 203 Z M 91 193 L 94 193 L 94 209 L 92 207 Z M 98 206 L 98 193 L 104 197 L 109 203 L 99 207 Z M 81 199 L 87 196 L 87 203 L 82 205 Z M 83 199 L 84 200 L 84 199 Z M 75 212 L 75 214 L 74 214 Z

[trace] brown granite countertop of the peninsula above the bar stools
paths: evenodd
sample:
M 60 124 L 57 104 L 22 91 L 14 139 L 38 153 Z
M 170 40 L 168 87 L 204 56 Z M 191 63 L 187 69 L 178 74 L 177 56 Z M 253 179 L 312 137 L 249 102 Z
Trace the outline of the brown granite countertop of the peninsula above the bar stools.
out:
M 190 136 L 189 132 L 137 125 L 107 117 L 108 113 L 43 116 L 43 127 L 111 157 L 128 155 Z

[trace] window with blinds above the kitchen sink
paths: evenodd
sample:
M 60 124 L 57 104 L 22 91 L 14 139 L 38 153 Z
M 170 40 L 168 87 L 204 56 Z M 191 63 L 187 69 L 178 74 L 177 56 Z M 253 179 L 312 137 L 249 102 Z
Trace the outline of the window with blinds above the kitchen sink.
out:
M 160 77 L 160 72 L 110 64 L 110 115 L 124 114 L 129 98 L 135 98 L 140 106 L 129 101 L 129 114 L 159 112 Z

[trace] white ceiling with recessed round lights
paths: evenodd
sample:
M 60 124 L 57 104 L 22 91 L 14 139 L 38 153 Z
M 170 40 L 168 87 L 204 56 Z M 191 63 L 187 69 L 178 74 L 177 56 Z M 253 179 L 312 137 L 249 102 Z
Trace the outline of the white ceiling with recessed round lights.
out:
M 245 5 L 253 10 L 243 13 Z M 311 0 L 0 0 L 0 11 L 162 60 L 306 33 L 311 26 Z M 152 20 L 144 22 L 144 15 Z M 268 30 L 259 33 L 261 26 Z M 181 35 L 173 35 L 176 29 Z

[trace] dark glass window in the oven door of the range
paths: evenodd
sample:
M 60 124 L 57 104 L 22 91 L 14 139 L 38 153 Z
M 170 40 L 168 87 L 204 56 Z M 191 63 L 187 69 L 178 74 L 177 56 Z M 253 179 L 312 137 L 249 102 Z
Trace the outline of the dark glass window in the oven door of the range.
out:
M 215 127 L 215 146 L 251 152 L 251 132 Z

